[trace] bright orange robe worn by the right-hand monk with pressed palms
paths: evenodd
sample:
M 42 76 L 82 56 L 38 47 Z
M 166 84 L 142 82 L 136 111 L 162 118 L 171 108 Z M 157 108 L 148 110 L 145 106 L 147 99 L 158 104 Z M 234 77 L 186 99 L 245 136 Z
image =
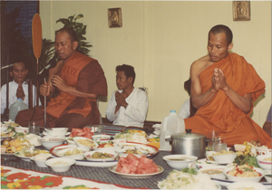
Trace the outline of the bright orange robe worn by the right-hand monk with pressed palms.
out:
M 257 75 L 253 66 L 237 53 L 228 53 L 226 58 L 199 74 L 202 93 L 212 87 L 211 77 L 216 68 L 223 71 L 228 85 L 242 97 L 251 93 L 255 101 L 265 92 L 265 82 Z M 249 117 L 252 110 L 253 102 L 252 109 L 246 114 L 232 103 L 223 90 L 219 90 L 208 104 L 198 109 L 195 116 L 184 119 L 185 128 L 204 135 L 215 129 L 226 137 L 228 146 L 256 140 L 271 148 L 271 138 Z

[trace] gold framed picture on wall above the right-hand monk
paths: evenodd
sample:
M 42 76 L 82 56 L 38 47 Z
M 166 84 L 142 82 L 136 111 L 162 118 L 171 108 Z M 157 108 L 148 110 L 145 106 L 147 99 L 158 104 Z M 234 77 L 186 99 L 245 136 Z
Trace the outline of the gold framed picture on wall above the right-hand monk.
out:
M 250 1 L 233 1 L 234 21 L 250 21 Z

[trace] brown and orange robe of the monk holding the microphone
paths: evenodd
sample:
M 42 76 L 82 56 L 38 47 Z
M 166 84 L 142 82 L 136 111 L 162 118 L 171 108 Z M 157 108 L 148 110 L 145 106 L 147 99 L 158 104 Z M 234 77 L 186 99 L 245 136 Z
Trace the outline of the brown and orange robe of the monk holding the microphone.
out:
M 76 90 L 106 96 L 107 82 L 101 65 L 94 59 L 74 52 L 67 59 L 60 76 L 68 86 Z M 61 91 L 59 95 L 48 102 L 46 107 L 47 124 L 50 127 L 83 128 L 86 125 L 99 124 L 100 112 L 96 99 L 85 99 Z M 19 111 L 15 121 L 27 126 L 30 120 L 40 121 L 44 126 L 43 107 Z

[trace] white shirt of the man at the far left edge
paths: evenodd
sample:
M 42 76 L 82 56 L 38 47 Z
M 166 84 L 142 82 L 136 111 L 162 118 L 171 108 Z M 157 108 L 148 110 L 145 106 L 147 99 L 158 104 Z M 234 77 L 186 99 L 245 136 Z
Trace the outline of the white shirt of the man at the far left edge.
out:
M 10 81 L 9 82 L 9 108 L 10 106 L 15 103 L 15 101 L 17 100 L 17 89 L 18 89 L 18 83 L 16 83 L 15 81 Z M 28 105 L 28 83 L 26 81 L 23 82 L 23 90 L 24 90 L 24 103 L 26 105 Z M 33 85 L 33 105 L 35 105 L 35 86 Z M 39 105 L 41 104 L 41 101 L 39 100 Z M 4 114 L 5 111 L 5 107 L 6 107 L 6 84 L 4 84 L 1 88 L 1 114 Z

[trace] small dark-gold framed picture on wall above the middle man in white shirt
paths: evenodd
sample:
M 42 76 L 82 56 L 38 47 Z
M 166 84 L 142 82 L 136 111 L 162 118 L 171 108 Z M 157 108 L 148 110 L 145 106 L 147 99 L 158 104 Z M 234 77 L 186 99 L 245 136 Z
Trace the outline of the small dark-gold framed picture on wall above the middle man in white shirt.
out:
M 121 8 L 108 9 L 109 28 L 122 27 Z

